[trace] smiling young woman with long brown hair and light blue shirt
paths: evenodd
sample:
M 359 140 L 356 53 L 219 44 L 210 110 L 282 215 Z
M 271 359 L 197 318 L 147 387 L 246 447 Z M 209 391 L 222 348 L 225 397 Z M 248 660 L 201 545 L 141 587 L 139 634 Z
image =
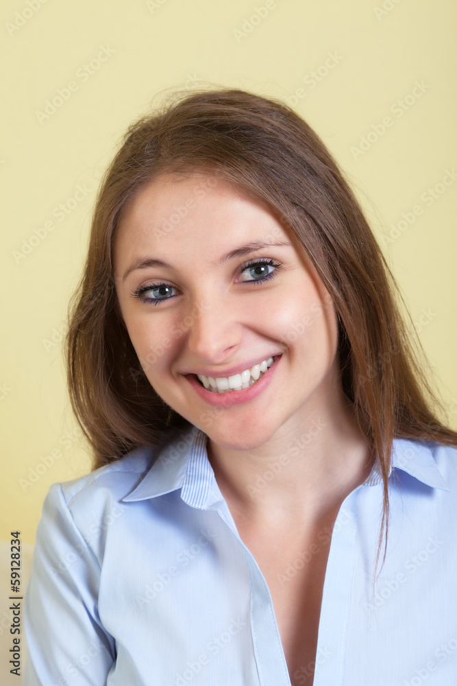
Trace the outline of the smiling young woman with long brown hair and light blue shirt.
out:
M 455 683 L 457 434 L 395 288 L 291 108 L 201 91 L 129 129 L 66 339 L 94 471 L 45 500 L 26 686 Z

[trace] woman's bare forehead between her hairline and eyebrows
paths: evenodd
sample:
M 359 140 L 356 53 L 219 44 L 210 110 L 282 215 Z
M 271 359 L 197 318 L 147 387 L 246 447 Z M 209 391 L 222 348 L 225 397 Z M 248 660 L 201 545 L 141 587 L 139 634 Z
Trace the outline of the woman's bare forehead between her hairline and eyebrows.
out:
M 269 206 L 225 179 L 202 173 L 162 175 L 127 203 L 116 231 L 114 261 L 154 250 L 161 257 L 198 248 L 208 259 L 248 240 L 291 241 Z M 117 249 L 116 249 L 117 248 Z

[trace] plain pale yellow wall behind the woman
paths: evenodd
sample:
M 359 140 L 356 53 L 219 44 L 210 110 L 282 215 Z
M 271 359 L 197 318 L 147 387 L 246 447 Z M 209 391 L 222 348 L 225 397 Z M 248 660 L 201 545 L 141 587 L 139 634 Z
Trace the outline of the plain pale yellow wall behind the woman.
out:
M 386 0 L 383 9 L 381 0 L 269 0 L 258 21 L 264 0 L 29 1 L 38 9 L 27 0 L 0 9 L 8 64 L 0 143 L 0 539 L 20 529 L 34 543 L 49 486 L 90 470 L 72 434 L 59 340 L 101 173 L 127 125 L 164 89 L 234 86 L 294 103 L 354 185 L 457 429 L 457 182 L 433 202 L 421 200 L 457 165 L 455 3 Z M 106 61 L 78 77 L 102 46 Z M 329 54 L 337 63 L 325 68 Z M 77 90 L 39 121 L 46 100 L 71 81 Z M 415 82 L 425 84 L 423 93 L 399 117 L 395 103 L 411 103 Z M 387 116 L 392 126 L 363 154 L 351 152 Z M 86 195 L 77 194 L 73 209 L 78 186 Z M 71 211 L 60 221 L 62 203 Z M 423 213 L 387 241 L 417 205 Z M 18 258 L 49 221 L 53 229 Z M 25 485 L 39 464 L 42 473 Z

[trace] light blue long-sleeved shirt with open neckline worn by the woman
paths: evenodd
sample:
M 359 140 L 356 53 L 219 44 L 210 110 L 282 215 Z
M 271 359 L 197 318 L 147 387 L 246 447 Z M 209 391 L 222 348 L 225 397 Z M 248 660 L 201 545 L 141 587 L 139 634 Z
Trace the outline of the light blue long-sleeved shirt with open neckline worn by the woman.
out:
M 25 596 L 25 686 L 291 686 L 267 582 L 206 440 L 193 427 L 51 486 Z M 457 449 L 395 439 L 393 472 L 374 593 L 376 467 L 338 512 L 314 686 L 457 684 Z M 314 555 L 284 560 L 282 582 Z M 309 684 L 309 666 L 292 681 Z

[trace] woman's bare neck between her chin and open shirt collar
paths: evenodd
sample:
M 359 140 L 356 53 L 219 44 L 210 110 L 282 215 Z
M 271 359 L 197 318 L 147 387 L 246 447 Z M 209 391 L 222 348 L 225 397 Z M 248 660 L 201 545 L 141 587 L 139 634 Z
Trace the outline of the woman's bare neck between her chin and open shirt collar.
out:
M 288 526 L 338 511 L 374 464 L 348 399 L 338 408 L 291 418 L 263 445 L 231 450 L 208 439 L 208 460 L 223 497 L 250 521 Z M 337 411 L 339 409 L 339 412 Z

